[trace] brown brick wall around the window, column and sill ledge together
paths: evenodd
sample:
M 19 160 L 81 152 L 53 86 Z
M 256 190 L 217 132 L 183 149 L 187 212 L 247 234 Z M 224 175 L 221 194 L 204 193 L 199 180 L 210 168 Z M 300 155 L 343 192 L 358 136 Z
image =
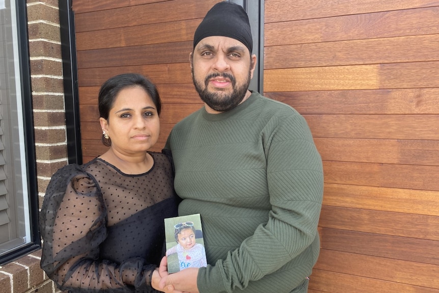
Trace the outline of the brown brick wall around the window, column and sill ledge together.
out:
M 28 0 L 29 51 L 40 206 L 51 175 L 67 162 L 58 0 Z M 40 269 L 41 251 L 0 267 L 1 293 L 59 292 Z

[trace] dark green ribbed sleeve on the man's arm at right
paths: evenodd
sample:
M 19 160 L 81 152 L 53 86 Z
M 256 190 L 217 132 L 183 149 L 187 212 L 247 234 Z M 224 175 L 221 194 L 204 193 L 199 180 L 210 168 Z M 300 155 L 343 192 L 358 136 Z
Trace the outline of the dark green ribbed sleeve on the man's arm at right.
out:
M 250 291 L 257 292 L 255 281 L 293 260 L 307 262 L 295 264 L 296 269 L 290 272 L 296 275 L 281 281 L 289 282 L 288 286 L 294 288 L 304 281 L 314 265 L 313 260 L 301 258 L 300 254 L 318 238 L 323 198 L 320 154 L 305 119 L 299 114 L 273 118 L 262 137 L 271 204 L 268 222 L 259 225 L 254 234 L 238 249 L 230 251 L 225 259 L 200 269 L 197 284 L 201 293 L 249 289 L 249 284 L 253 287 Z

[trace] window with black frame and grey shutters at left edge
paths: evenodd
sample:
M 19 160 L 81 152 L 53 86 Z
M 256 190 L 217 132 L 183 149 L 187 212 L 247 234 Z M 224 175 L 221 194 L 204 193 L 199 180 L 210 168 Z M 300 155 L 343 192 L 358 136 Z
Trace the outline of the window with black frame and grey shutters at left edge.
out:
M 0 0 L 0 264 L 39 247 L 26 6 Z

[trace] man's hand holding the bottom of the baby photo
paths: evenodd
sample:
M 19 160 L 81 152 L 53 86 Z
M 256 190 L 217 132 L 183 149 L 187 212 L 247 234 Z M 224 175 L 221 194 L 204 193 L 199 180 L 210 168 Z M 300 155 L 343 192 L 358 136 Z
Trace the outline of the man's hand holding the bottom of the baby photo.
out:
M 170 275 L 168 274 L 168 259 L 164 256 L 160 261 L 158 272 L 161 277 L 158 290 L 166 288 L 169 292 L 174 291 L 174 293 L 176 293 L 177 290 L 183 292 L 198 292 L 198 269 L 187 268 Z

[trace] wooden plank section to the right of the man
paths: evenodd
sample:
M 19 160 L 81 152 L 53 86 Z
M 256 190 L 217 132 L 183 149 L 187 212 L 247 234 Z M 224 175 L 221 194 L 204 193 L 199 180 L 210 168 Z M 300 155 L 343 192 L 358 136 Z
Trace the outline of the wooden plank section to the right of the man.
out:
M 439 1 L 265 0 L 265 95 L 323 158 L 309 292 L 439 292 Z

